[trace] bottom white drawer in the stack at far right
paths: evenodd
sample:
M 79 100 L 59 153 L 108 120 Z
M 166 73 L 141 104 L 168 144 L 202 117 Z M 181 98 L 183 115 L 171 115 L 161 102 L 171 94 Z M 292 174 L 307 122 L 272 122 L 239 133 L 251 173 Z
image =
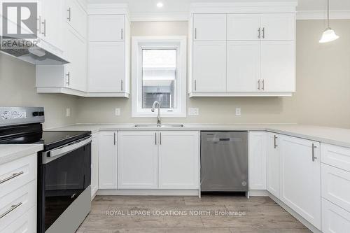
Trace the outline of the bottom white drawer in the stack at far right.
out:
M 346 233 L 350 229 L 350 212 L 322 199 L 322 232 Z

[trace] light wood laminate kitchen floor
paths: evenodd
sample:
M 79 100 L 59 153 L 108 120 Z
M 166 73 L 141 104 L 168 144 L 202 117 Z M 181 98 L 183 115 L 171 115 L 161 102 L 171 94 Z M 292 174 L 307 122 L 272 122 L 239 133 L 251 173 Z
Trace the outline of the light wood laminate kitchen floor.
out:
M 306 233 L 269 197 L 97 196 L 78 233 Z

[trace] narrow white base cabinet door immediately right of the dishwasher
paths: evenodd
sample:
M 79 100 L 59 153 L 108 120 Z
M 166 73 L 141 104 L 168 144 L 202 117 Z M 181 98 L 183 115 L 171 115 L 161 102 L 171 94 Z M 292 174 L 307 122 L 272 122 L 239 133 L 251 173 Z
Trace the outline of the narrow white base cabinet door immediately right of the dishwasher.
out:
M 249 132 L 249 190 L 266 190 L 266 133 Z

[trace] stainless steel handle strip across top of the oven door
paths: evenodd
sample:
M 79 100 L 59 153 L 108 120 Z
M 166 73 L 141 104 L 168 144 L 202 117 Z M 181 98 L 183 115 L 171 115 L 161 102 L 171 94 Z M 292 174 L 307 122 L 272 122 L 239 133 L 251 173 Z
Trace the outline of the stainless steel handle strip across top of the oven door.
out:
M 84 139 L 80 139 L 78 141 L 74 141 L 73 143 L 69 143 L 67 146 L 62 146 L 57 149 L 48 150 L 43 152 L 43 163 L 51 162 L 63 155 L 70 153 L 73 150 L 76 150 L 80 147 L 85 146 L 86 144 L 92 141 L 92 136 L 87 136 Z

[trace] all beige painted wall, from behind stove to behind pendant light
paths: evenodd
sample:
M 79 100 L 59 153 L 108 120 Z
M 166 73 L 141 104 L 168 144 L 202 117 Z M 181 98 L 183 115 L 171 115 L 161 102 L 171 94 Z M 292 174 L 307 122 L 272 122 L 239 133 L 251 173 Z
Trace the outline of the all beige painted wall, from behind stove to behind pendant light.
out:
M 297 22 L 297 92 L 293 97 L 192 98 L 188 107 L 200 108 L 200 115 L 164 122 L 298 122 L 350 128 L 350 20 L 332 22 L 341 38 L 322 45 L 318 39 L 324 27 L 322 20 Z M 133 36 L 187 34 L 187 22 L 132 23 Z M 45 106 L 45 127 L 73 122 L 155 122 L 131 118 L 131 99 L 36 94 L 34 66 L 6 55 L 0 55 L 0 92 L 0 106 Z M 71 107 L 71 118 L 65 117 L 66 106 Z M 236 107 L 241 107 L 239 117 Z M 114 115 L 114 108 L 121 108 L 120 116 Z

